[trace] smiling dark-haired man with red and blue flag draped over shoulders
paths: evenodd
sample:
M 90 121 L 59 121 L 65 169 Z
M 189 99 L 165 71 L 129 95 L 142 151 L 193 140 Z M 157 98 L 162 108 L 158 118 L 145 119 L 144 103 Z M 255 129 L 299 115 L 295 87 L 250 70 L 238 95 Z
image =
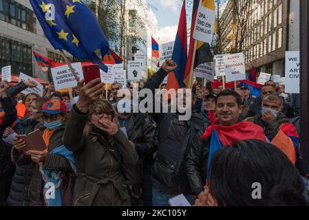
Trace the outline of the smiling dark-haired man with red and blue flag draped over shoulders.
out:
M 242 99 L 235 91 L 222 91 L 216 100 L 215 112 L 218 122 L 200 131 L 187 155 L 187 175 L 195 195 L 204 191 L 206 180 L 211 178 L 211 157 L 222 146 L 232 145 L 239 140 L 256 139 L 266 142 L 261 126 L 252 122 L 241 122 Z

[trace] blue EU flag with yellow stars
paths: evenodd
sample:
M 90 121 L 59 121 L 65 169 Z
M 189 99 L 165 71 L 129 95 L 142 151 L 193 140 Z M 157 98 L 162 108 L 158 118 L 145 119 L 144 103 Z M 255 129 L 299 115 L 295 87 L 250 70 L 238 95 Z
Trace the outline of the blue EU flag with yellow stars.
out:
M 104 56 L 109 44 L 94 13 L 81 0 L 30 0 L 36 18 L 54 49 L 87 58 L 107 72 L 95 50 Z

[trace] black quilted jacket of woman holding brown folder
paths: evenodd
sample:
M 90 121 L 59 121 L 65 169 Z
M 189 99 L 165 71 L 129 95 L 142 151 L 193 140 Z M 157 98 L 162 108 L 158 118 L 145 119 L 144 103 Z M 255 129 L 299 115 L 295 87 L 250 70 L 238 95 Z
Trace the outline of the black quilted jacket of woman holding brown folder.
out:
M 43 131 L 43 122 L 36 122 L 29 118 L 21 120 L 20 134 L 28 134 L 36 129 Z M 12 161 L 16 164 L 14 157 Z M 10 195 L 8 197 L 8 206 L 30 206 L 30 199 L 28 195 L 29 184 L 32 179 L 34 162 L 30 162 L 25 166 L 16 166 L 16 170 L 12 179 L 10 188 Z

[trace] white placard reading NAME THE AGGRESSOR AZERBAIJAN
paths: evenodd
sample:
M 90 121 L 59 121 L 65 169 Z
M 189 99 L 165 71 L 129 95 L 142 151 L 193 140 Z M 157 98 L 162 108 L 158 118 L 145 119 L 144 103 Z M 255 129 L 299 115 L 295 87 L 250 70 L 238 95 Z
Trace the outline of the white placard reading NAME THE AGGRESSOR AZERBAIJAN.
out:
M 83 69 L 81 63 L 72 63 L 73 69 L 80 80 L 84 79 Z M 54 81 L 54 86 L 56 90 L 67 89 L 77 86 L 77 81 L 75 80 L 73 74 L 70 71 L 68 65 L 63 65 L 61 67 L 52 68 L 52 80 Z

